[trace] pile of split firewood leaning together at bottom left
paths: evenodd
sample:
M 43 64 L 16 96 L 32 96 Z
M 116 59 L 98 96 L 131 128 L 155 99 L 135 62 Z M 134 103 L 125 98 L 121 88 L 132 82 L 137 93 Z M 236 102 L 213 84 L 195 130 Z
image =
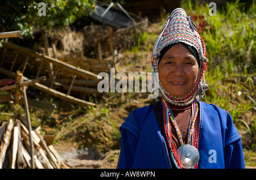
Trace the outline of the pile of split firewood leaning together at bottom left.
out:
M 71 169 L 52 145 L 47 145 L 38 130 L 32 130 L 34 156 L 31 157 L 27 122 L 22 116 L 10 119 L 0 127 L 0 168 L 2 169 Z

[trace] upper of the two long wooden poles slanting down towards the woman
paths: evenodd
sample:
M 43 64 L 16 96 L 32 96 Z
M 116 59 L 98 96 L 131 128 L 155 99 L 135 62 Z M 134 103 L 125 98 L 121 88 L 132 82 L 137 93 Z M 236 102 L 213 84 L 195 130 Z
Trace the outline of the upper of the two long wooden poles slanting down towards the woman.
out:
M 15 44 L 10 44 L 10 43 L 7 43 L 7 42 L 2 42 L 2 45 L 7 47 L 7 48 L 16 49 L 16 50 L 19 50 L 23 53 L 30 54 L 35 58 L 43 59 L 46 62 L 51 62 L 51 63 L 55 64 L 56 66 L 64 68 L 65 70 L 75 72 L 77 75 L 88 76 L 88 78 L 94 79 L 97 82 L 100 81 L 100 80 L 97 79 L 98 75 L 96 75 L 96 74 L 94 74 L 90 71 L 86 71 L 86 70 L 83 70 L 81 68 L 77 68 L 75 66 L 69 65 L 68 63 L 60 61 L 59 59 L 49 57 L 48 55 L 42 55 L 42 54 L 39 54 L 39 53 L 35 53 L 31 49 L 23 48 L 22 46 L 18 46 L 18 45 L 15 45 Z M 99 76 L 99 78 L 102 79 L 102 77 L 100 77 L 100 76 Z

